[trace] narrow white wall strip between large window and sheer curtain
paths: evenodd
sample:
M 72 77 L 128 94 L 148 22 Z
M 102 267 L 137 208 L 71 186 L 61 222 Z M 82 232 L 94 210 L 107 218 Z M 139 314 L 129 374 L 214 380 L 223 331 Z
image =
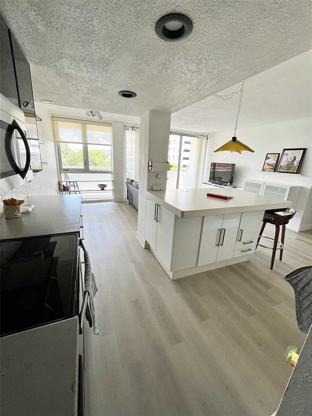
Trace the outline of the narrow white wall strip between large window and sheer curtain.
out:
M 125 200 L 125 150 L 123 123 L 112 122 L 114 202 Z

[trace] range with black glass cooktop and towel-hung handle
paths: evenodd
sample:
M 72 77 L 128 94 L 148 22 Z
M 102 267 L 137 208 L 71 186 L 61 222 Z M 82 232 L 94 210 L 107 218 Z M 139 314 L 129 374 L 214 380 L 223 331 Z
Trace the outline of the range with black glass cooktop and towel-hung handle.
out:
M 83 416 L 84 333 L 93 318 L 81 240 L 1 240 L 0 272 L 1 416 Z

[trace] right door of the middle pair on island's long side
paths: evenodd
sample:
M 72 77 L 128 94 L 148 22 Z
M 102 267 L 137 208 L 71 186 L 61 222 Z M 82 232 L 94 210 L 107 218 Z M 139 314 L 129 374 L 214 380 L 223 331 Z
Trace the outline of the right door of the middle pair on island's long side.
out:
M 223 216 L 220 245 L 218 247 L 216 261 L 233 258 L 240 217 L 241 213 L 225 214 Z

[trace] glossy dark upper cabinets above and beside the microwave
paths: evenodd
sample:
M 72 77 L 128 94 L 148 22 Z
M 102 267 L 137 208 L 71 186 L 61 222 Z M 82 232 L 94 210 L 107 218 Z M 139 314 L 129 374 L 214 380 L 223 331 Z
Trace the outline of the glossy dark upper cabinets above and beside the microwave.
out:
M 29 63 L 1 17 L 0 93 L 23 110 L 26 137 L 31 153 L 31 169 L 42 170 L 37 119 Z M 40 120 L 40 119 L 39 119 Z

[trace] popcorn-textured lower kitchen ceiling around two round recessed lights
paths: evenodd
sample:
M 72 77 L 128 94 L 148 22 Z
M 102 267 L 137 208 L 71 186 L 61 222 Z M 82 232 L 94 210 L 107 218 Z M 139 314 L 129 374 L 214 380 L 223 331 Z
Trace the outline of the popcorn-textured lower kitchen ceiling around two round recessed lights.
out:
M 31 63 L 35 100 L 139 116 L 175 112 L 311 48 L 310 0 L 1 0 Z M 186 14 L 193 32 L 157 38 Z M 133 90 L 123 99 L 119 90 Z

